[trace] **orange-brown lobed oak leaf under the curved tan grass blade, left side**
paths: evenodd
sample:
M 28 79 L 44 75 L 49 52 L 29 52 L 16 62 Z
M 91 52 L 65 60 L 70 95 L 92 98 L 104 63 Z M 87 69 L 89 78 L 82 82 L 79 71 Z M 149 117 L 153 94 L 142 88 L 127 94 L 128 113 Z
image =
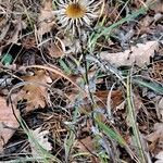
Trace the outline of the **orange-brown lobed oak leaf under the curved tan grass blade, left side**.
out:
M 22 90 L 17 93 L 17 99 L 27 100 L 26 112 L 38 108 L 45 108 L 48 103 L 48 92 L 47 87 L 42 86 L 47 83 L 51 83 L 51 78 L 46 74 L 45 71 L 35 72 L 34 76 L 22 77 L 25 82 L 30 82 L 32 84 L 25 85 Z M 37 84 L 41 85 L 37 85 Z

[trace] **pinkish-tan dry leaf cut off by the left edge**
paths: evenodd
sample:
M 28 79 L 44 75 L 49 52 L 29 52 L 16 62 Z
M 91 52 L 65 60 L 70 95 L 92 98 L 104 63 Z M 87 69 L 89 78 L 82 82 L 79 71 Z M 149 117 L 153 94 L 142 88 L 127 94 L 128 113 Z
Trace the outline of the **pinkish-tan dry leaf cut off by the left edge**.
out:
M 20 111 L 13 105 L 14 113 L 18 117 Z M 0 153 L 3 151 L 3 146 L 9 141 L 20 124 L 13 114 L 11 105 L 7 105 L 7 100 L 0 97 Z

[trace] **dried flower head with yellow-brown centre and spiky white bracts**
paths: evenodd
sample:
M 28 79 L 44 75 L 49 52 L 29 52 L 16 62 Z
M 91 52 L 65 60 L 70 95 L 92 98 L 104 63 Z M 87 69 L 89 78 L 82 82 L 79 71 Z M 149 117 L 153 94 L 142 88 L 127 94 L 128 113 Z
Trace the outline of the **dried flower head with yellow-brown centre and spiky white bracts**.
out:
M 80 33 L 80 27 L 89 26 L 98 17 L 100 1 L 96 0 L 59 0 L 57 17 L 62 28 Z

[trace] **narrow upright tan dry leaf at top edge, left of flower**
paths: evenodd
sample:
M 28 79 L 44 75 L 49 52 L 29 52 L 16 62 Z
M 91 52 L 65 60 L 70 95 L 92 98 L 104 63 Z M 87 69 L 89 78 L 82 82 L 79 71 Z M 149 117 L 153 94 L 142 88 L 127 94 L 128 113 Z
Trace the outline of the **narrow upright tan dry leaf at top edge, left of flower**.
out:
M 37 35 L 41 42 L 42 35 L 49 33 L 53 27 L 53 25 L 55 24 L 54 14 L 52 12 L 52 0 L 43 1 L 43 8 L 40 10 L 40 14 L 38 16 L 38 23 L 39 26 L 38 26 Z

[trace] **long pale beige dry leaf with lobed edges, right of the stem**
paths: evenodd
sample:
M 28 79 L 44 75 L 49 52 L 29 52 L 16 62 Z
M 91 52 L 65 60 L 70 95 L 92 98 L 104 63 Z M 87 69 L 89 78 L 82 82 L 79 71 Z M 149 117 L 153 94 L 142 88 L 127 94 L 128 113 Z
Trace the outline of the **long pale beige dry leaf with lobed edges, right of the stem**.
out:
M 159 42 L 148 41 L 145 45 L 138 43 L 124 52 L 108 53 L 108 51 L 103 51 L 100 57 L 116 66 L 133 65 L 134 63 L 143 66 L 146 63 L 150 63 L 150 57 L 154 55 L 155 50 L 159 50 Z

